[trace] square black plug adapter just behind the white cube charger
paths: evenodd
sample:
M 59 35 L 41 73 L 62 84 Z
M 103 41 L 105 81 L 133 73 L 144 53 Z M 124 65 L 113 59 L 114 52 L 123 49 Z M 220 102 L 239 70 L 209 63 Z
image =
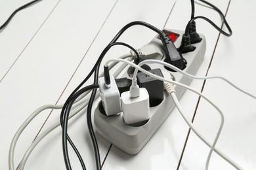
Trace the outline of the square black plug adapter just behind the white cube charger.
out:
M 152 69 L 149 72 L 163 77 L 160 69 Z M 148 91 L 150 107 L 155 107 L 163 101 L 163 82 L 161 80 L 152 78 L 142 72 L 137 74 L 137 80 L 140 88 L 146 88 Z

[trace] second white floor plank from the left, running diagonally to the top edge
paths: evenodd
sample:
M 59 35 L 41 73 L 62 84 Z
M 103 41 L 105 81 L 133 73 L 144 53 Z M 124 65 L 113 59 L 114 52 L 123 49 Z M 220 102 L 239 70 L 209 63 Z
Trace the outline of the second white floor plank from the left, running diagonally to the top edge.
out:
M 16 129 L 37 107 L 56 103 L 115 2 L 61 1 L 3 79 L 0 129 L 5 138 L 1 141 L 0 169 L 7 169 L 9 145 Z M 22 135 L 15 153 L 16 165 L 48 114 L 49 110 L 38 116 Z M 58 146 L 61 148 L 61 143 Z M 51 161 L 58 169 L 64 169 L 62 154 L 58 157 L 60 162 Z M 45 169 L 49 165 L 51 169 L 51 163 L 41 163 L 27 168 L 38 169 L 40 165 Z

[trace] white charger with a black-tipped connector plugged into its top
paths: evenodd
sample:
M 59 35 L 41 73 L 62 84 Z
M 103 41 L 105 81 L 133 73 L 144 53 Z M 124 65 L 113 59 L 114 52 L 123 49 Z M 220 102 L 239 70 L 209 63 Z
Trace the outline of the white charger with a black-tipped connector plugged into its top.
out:
M 110 75 L 110 88 L 106 87 L 104 77 L 98 78 L 100 88 L 100 99 L 107 116 L 121 112 L 120 93 L 117 88 L 114 76 Z

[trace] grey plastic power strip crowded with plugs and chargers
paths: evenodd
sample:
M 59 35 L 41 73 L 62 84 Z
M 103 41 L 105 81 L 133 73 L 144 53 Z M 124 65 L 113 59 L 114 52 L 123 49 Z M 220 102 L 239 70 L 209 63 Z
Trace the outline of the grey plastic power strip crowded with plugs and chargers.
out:
M 164 30 L 167 31 L 167 33 L 174 33 L 176 35 L 177 39 L 174 44 L 176 47 L 179 47 L 181 44 L 182 33 L 184 33 L 184 31 L 170 29 Z M 192 44 L 196 47 L 196 50 L 182 54 L 184 59 L 187 61 L 187 66 L 184 71 L 191 75 L 195 75 L 196 71 L 198 71 L 205 54 L 205 37 L 202 34 L 200 34 L 200 37 L 202 38 L 201 42 Z M 156 36 L 149 44 L 154 44 L 162 49 L 161 41 L 158 39 L 158 36 Z M 148 44 L 146 44 L 146 46 L 147 45 Z M 165 58 L 163 57 L 161 60 L 164 59 Z M 166 70 L 165 67 L 159 64 L 148 64 L 148 66 L 151 69 L 159 68 L 161 70 Z M 177 82 L 181 82 L 186 85 L 189 85 L 191 82 L 190 78 L 187 78 L 180 73 L 172 71 L 170 71 L 170 73 L 174 76 Z M 130 78 L 127 73 L 125 73 L 123 77 Z M 178 99 L 181 99 L 183 93 L 186 91 L 186 89 L 181 88 L 181 86 L 176 86 L 175 90 Z M 94 115 L 96 132 L 128 154 L 137 154 L 150 140 L 154 133 L 156 133 L 174 107 L 175 104 L 173 103 L 171 96 L 164 92 L 163 101 L 161 101 L 160 105 L 156 107 L 150 107 L 150 119 L 141 126 L 130 126 L 125 124 L 122 112 L 116 116 L 106 116 L 99 111 L 98 107 L 96 107 Z

